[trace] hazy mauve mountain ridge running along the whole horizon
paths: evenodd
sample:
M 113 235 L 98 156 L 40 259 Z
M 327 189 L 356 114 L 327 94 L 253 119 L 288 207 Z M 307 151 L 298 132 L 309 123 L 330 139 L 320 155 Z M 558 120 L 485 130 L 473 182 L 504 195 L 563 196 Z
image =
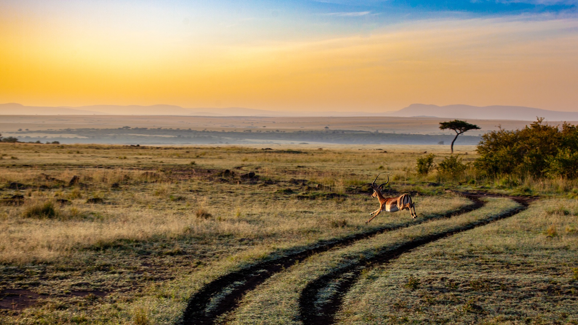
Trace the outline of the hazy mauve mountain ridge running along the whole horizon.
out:
M 289 112 L 241 107 L 183 108 L 176 105 L 88 105 L 24 106 L 16 103 L 0 104 L 0 115 L 176 115 L 176 116 L 429 116 L 448 119 L 522 120 L 544 117 L 550 121 L 578 121 L 578 112 L 558 112 L 524 106 L 472 106 L 412 104 L 406 108 L 380 113 L 371 112 Z

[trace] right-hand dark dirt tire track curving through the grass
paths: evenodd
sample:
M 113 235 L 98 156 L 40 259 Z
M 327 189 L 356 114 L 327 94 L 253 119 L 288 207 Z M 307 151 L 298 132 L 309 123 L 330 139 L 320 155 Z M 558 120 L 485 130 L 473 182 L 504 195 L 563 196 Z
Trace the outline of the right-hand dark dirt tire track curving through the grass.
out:
M 416 249 L 425 244 L 438 241 L 439 239 L 449 237 L 454 234 L 458 234 L 459 232 L 485 226 L 486 224 L 492 223 L 497 220 L 517 215 L 518 213 L 528 208 L 529 202 L 536 200 L 536 197 L 511 197 L 507 195 L 491 195 L 491 194 L 488 195 L 480 193 L 461 193 L 461 194 L 465 195 L 465 197 L 468 197 L 471 200 L 479 200 L 479 197 L 507 197 L 518 202 L 522 206 L 520 208 L 502 213 L 492 219 L 480 220 L 479 222 L 471 223 L 468 226 L 460 228 L 459 230 L 441 232 L 440 234 L 435 234 L 425 238 L 420 238 L 411 242 L 407 242 L 395 250 L 391 250 L 387 253 L 380 254 L 373 258 L 369 258 L 368 260 L 363 261 L 365 263 L 365 266 L 370 267 L 377 264 L 387 263 L 391 260 L 395 260 L 395 258 L 398 258 L 402 254 L 409 253 L 413 249 Z M 307 285 L 305 289 L 303 289 L 301 297 L 299 297 L 299 319 L 303 322 L 304 325 L 328 325 L 335 323 L 335 314 L 336 312 L 339 311 L 339 308 L 343 303 L 343 296 L 345 293 L 347 293 L 347 291 L 349 291 L 351 286 L 353 286 L 353 284 L 357 282 L 357 279 L 361 274 L 362 269 L 361 266 L 362 265 L 360 264 L 350 265 L 347 268 L 339 269 L 337 272 L 320 276 L 320 278 L 309 283 L 309 285 Z M 349 276 L 347 279 L 344 279 L 342 282 L 339 283 L 337 287 L 337 293 L 331 298 L 331 300 L 327 304 L 321 306 L 320 311 L 313 309 L 312 306 L 316 301 L 318 291 L 327 286 L 327 283 L 329 283 L 331 280 L 339 279 L 343 274 L 346 273 L 353 273 L 353 276 Z

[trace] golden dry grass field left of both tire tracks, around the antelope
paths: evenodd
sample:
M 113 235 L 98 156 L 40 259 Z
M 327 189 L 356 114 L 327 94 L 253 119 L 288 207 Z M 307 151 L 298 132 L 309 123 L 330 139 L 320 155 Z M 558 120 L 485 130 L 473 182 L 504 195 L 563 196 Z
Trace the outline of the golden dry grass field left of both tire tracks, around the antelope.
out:
M 40 297 L 4 312 L 2 322 L 168 324 L 191 293 L 219 275 L 320 240 L 412 220 L 404 211 L 364 224 L 377 202 L 360 190 L 379 172 L 380 179 L 390 175 L 388 189 L 419 192 L 412 195 L 418 215 L 466 203 L 446 188 L 481 186 L 428 184 L 438 181 L 435 174 L 417 176 L 416 158 L 433 146 L 362 148 L 279 147 L 305 152 L 296 154 L 0 143 L 0 291 Z M 473 147 L 461 149 L 475 157 Z M 236 175 L 217 176 L 225 169 Z M 240 178 L 248 172 L 258 182 Z M 577 228 L 565 227 L 544 231 L 559 237 Z

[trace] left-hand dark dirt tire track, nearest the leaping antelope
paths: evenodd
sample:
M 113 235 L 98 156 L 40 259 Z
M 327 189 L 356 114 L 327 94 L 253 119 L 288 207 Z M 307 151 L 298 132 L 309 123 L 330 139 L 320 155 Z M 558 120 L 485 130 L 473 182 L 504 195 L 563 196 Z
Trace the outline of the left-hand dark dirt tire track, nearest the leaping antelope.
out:
M 454 210 L 452 212 L 445 213 L 440 216 L 431 217 L 423 221 L 431 219 L 444 219 L 452 216 L 461 215 L 484 206 L 485 202 L 479 200 L 478 197 L 474 195 L 466 195 L 472 203 L 464 206 L 461 209 Z M 407 226 L 388 226 L 376 228 L 372 231 L 361 232 L 358 234 L 351 235 L 346 238 L 339 239 L 338 241 L 325 241 L 320 242 L 316 247 L 303 250 L 302 252 L 289 254 L 276 260 L 265 261 L 250 267 L 241 269 L 236 272 L 229 273 L 227 275 L 220 276 L 219 278 L 213 280 L 207 285 L 203 286 L 201 290 L 195 293 L 188 301 L 187 308 L 183 312 L 183 316 L 179 324 L 189 325 L 189 324 L 199 324 L 199 325 L 209 325 L 213 324 L 217 317 L 233 311 L 239 306 L 240 299 L 249 291 L 254 290 L 255 287 L 261 285 L 266 279 L 271 278 L 272 275 L 277 272 L 283 271 L 284 269 L 294 265 L 295 262 L 303 261 L 305 258 L 312 256 L 313 254 L 327 252 L 330 249 L 341 248 L 353 244 L 354 242 L 360 241 L 361 239 L 373 237 L 375 235 L 382 234 L 386 231 L 397 230 L 400 228 L 405 228 L 409 226 L 414 226 L 415 224 L 409 224 Z M 212 309 L 210 312 L 205 312 L 205 309 L 210 303 L 213 296 L 223 291 L 225 288 L 231 286 L 235 282 L 243 282 L 242 285 L 234 287 L 231 293 L 218 302 L 216 308 Z

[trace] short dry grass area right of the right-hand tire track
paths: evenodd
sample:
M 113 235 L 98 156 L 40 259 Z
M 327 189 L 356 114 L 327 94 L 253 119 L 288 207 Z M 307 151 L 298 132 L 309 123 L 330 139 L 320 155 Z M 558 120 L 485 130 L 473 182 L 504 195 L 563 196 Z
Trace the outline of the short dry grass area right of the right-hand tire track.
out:
M 577 202 L 553 199 L 431 243 L 367 272 L 340 323 L 577 324 L 577 224 Z

